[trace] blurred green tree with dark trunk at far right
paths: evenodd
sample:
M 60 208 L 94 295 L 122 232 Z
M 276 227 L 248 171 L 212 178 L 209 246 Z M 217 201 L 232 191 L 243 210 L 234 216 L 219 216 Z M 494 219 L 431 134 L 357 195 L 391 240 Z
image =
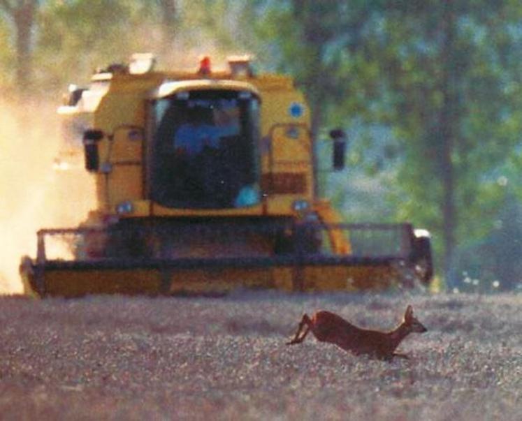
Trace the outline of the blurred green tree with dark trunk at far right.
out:
M 521 13 L 510 1 L 405 1 L 372 34 L 389 98 L 378 118 L 404 140 L 400 212 L 442 234 L 445 273 L 457 242 L 491 228 L 492 175 L 518 141 Z

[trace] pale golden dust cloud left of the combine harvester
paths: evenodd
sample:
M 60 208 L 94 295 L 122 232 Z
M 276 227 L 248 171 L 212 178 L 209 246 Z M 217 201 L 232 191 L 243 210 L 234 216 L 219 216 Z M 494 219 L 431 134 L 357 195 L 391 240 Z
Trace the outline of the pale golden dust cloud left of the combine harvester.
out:
M 56 105 L 0 102 L 0 294 L 22 292 L 18 265 L 40 228 L 77 226 L 94 202 L 78 165 L 53 165 L 61 149 Z

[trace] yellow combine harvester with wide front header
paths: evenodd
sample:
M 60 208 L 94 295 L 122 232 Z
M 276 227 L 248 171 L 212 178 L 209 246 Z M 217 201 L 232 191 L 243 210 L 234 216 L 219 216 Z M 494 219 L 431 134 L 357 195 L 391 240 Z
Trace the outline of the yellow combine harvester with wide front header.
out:
M 212 71 L 113 65 L 59 109 L 96 179 L 78 228 L 40 230 L 26 293 L 361 290 L 428 283 L 427 232 L 344 224 L 318 198 L 310 108 L 293 80 L 249 60 Z M 333 167 L 344 165 L 333 131 Z M 60 254 L 54 255 L 59 249 Z M 64 252 L 65 251 L 65 252 Z

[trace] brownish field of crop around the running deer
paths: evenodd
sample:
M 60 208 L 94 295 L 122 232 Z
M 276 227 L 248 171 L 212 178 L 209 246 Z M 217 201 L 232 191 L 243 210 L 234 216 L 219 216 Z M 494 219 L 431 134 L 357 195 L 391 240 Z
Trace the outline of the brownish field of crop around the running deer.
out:
M 410 360 L 353 357 L 312 335 L 329 309 L 429 332 Z M 0 298 L 2 420 L 521 420 L 522 295 Z

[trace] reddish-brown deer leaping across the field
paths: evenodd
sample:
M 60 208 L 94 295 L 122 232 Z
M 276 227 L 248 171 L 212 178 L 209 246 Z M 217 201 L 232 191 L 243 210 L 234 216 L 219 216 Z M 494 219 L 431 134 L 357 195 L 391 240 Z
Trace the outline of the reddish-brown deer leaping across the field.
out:
M 408 334 L 423 333 L 427 329 L 414 318 L 412 306 L 407 306 L 403 323 L 391 332 L 361 329 L 335 313 L 317 311 L 311 318 L 305 313 L 296 336 L 287 345 L 300 344 L 310 331 L 318 341 L 335 344 L 354 355 L 369 354 L 379 360 L 391 361 L 393 357 L 408 358 L 407 355 L 395 353 L 396 348 Z

